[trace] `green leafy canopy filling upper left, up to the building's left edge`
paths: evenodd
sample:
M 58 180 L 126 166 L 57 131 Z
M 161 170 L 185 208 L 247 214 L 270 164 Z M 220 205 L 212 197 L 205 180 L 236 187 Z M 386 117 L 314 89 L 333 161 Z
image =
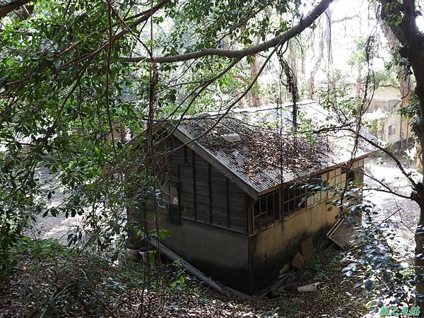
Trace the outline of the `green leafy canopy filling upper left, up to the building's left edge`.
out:
M 235 79 L 243 72 L 237 66 L 201 88 L 232 63 L 226 58 L 205 57 L 187 67 L 161 64 L 154 73 L 150 63 L 128 64 L 122 57 L 134 51 L 179 54 L 225 47 L 228 41 L 246 47 L 287 30 L 290 20 L 270 17 L 289 12 L 291 17 L 300 4 L 165 2 L 151 19 L 151 30 L 146 27 L 150 13 L 143 13 L 150 5 L 134 1 L 117 6 L 109 1 L 40 0 L 29 16 L 10 13 L 1 20 L 3 272 L 14 266 L 9 247 L 37 214 L 83 215 L 86 224 L 69 236 L 70 244 L 84 238 L 83 245 L 106 249 L 139 232 L 139 224 L 126 222 L 125 209 L 135 206 L 138 220 L 155 218 L 160 204 L 156 172 L 163 168 L 158 160 L 143 160 L 152 155 L 146 151 L 151 145 L 146 118 L 218 109 L 247 87 Z M 140 16 L 146 16 L 146 23 Z M 163 28 L 167 34 L 158 32 Z M 216 90 L 222 99 L 216 99 Z M 112 141 L 113 132 L 121 138 Z M 59 179 L 64 204 L 50 204 L 53 193 L 43 191 L 43 181 L 35 175 L 40 167 Z

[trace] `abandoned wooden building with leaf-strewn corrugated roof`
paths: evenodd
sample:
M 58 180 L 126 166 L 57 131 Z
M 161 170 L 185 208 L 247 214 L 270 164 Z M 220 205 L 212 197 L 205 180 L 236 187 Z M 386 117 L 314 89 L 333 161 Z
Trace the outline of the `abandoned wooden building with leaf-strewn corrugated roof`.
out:
M 298 107 L 323 115 L 316 102 Z M 336 222 L 338 209 L 327 211 L 331 193 L 307 196 L 293 185 L 343 183 L 346 163 L 359 171 L 372 152 L 361 144 L 351 161 L 351 136 L 294 138 L 272 128 L 290 126 L 290 113 L 290 105 L 236 110 L 216 126 L 220 114 L 208 113 L 170 130 L 162 208 L 170 236 L 163 244 L 248 294 L 276 278 L 305 237 L 319 242 Z

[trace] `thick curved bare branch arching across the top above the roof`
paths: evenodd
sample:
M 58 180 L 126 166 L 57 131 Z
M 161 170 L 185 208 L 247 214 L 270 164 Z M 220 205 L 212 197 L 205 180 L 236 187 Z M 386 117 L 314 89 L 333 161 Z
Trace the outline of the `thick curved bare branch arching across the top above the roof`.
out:
M 271 40 L 261 42 L 258 45 L 253 45 L 252 47 L 248 47 L 247 49 L 202 49 L 200 51 L 179 54 L 179 55 L 171 55 L 165 57 L 155 57 L 155 62 L 157 63 L 173 63 L 178 61 L 188 61 L 190 59 L 198 59 L 199 57 L 206 57 L 208 55 L 215 55 L 218 57 L 228 57 L 230 59 L 233 58 L 241 58 L 241 57 L 249 57 L 259 52 L 266 51 L 267 49 L 271 49 L 271 47 L 276 47 L 278 44 L 284 43 L 290 40 L 292 37 L 299 35 L 303 30 L 309 28 L 312 23 L 319 18 L 319 16 L 324 13 L 326 8 L 333 2 L 333 0 L 322 0 L 317 4 L 317 6 L 310 11 L 310 13 L 305 16 L 305 18 L 301 19 L 297 25 L 295 25 L 290 30 L 285 31 L 281 35 L 273 37 Z M 138 62 L 138 61 L 148 61 L 148 57 L 122 57 L 122 61 L 128 62 Z

